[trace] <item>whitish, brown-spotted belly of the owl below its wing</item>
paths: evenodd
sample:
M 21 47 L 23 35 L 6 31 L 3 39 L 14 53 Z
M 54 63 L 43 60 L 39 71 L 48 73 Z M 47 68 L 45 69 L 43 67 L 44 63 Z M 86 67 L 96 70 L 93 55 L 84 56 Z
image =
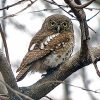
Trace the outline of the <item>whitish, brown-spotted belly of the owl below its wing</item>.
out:
M 67 46 L 66 46 L 67 47 Z M 72 49 L 71 48 L 59 48 L 55 51 L 52 51 L 45 59 L 44 64 L 48 67 L 57 67 L 58 65 L 65 62 L 71 55 Z

